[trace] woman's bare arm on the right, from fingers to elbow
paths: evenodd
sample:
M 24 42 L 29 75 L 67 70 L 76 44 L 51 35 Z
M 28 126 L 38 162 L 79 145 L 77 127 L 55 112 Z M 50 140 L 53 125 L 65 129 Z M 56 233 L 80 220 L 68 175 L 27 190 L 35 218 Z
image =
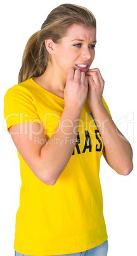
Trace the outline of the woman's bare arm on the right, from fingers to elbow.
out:
M 88 75 L 89 107 L 96 120 L 98 130 L 105 145 L 103 153 L 110 167 L 122 175 L 129 174 L 133 169 L 133 151 L 131 145 L 117 129 L 112 118 L 103 106 L 102 94 L 104 81 L 99 69 L 91 69 Z M 106 143 L 107 141 L 107 143 Z

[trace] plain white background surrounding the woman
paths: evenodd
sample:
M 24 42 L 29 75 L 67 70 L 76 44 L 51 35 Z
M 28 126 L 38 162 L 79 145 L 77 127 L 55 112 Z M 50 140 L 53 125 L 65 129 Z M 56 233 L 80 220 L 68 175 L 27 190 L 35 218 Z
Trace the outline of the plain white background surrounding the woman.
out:
M 136 6 L 135 0 L 35 1 L 4 0 L 0 15 L 0 254 L 13 256 L 15 214 L 19 203 L 20 171 L 16 149 L 6 132 L 3 97 L 17 83 L 22 53 L 29 37 L 39 29 L 49 11 L 62 3 L 74 3 L 93 11 L 97 21 L 96 57 L 105 80 L 104 97 L 114 122 L 129 139 L 134 170 L 120 176 L 101 160 L 100 178 L 107 224 L 108 256 L 136 255 Z

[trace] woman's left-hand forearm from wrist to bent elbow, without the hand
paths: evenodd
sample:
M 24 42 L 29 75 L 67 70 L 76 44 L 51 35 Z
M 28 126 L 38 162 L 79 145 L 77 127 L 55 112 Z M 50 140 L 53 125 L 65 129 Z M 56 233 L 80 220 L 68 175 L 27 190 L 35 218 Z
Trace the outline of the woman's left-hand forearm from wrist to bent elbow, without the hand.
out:
M 53 136 L 41 148 L 40 180 L 54 184 L 69 162 L 77 138 L 81 111 L 65 108 Z

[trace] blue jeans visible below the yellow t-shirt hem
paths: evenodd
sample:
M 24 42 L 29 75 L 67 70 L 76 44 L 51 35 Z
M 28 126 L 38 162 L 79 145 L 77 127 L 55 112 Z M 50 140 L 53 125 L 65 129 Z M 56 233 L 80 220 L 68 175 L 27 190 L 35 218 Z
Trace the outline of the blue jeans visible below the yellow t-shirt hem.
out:
M 105 241 L 101 245 L 96 246 L 95 248 L 85 252 L 63 254 L 63 255 L 56 255 L 56 256 L 107 256 L 107 252 L 108 252 L 108 241 Z M 15 256 L 30 256 L 30 255 L 20 254 L 18 252 L 15 252 Z M 44 256 L 44 255 L 41 255 L 41 256 Z

